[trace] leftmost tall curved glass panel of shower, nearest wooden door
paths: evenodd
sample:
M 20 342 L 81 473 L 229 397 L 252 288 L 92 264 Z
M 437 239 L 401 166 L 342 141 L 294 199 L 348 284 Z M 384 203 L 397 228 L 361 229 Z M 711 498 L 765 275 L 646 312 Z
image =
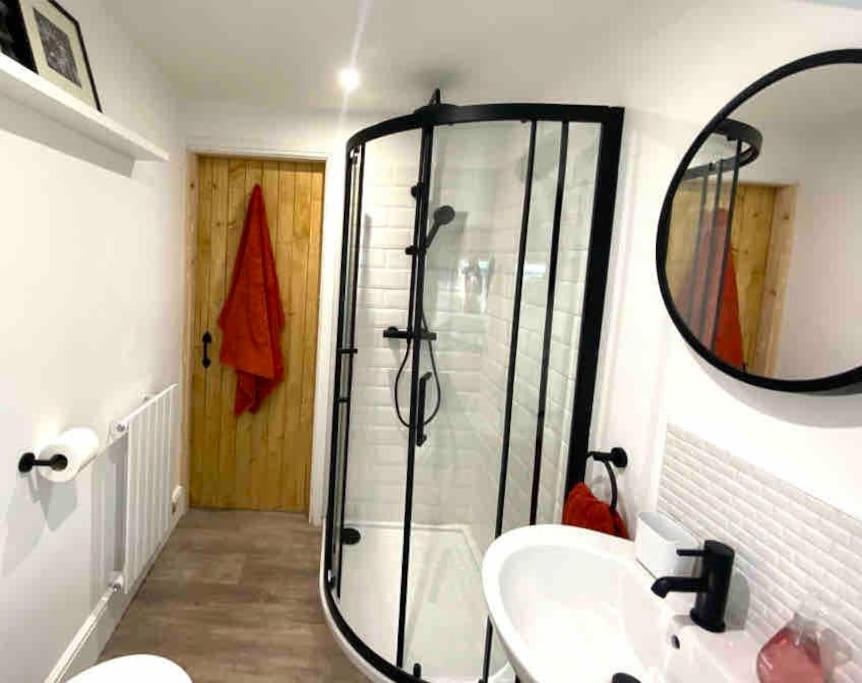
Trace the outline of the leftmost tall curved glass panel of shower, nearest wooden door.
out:
M 404 524 L 407 428 L 393 396 L 405 342 L 384 338 L 408 321 L 410 257 L 420 134 L 390 135 L 366 143 L 351 354 L 349 456 L 344 489 L 339 606 L 357 635 L 395 661 Z M 356 246 L 356 245 L 354 245 Z M 346 318 L 347 316 L 345 316 Z M 400 406 L 409 415 L 409 381 L 400 382 Z M 356 542 L 358 540 L 358 542 Z M 351 543 L 350 541 L 354 541 Z

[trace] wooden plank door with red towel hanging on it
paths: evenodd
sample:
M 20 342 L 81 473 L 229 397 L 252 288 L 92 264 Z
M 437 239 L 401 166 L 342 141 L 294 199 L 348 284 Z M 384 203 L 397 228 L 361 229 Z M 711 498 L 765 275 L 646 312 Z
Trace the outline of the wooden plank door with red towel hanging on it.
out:
M 320 162 L 198 157 L 190 499 L 193 506 L 308 509 L 323 212 Z M 255 184 L 263 189 L 285 327 L 284 381 L 254 415 L 233 414 L 236 372 L 219 362 L 218 315 Z M 204 368 L 203 336 L 212 335 Z

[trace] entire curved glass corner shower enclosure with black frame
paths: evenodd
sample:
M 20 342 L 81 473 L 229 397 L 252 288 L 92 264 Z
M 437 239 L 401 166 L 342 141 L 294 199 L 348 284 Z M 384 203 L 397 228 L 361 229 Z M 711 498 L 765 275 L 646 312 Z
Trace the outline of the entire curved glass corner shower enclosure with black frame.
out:
M 348 142 L 322 591 L 384 679 L 514 680 L 481 558 L 584 476 L 621 128 L 438 92 Z

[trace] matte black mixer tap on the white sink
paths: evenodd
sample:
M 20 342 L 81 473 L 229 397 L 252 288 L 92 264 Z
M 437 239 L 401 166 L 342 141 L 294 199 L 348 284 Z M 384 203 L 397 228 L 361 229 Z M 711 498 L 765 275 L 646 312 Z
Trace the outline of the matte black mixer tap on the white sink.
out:
M 664 598 L 671 591 L 697 593 L 691 620 L 707 631 L 724 631 L 724 610 L 730 591 L 730 575 L 733 571 L 733 548 L 718 541 L 705 541 L 702 550 L 677 550 L 681 557 L 700 557 L 700 576 L 664 576 L 656 579 L 652 592 Z

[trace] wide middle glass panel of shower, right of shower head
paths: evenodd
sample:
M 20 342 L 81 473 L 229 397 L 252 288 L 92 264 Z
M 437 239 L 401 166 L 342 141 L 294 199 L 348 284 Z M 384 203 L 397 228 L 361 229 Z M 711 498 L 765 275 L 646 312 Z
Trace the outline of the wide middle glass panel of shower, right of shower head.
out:
M 496 521 L 529 136 L 521 122 L 434 130 L 423 313 L 436 338 L 420 352 L 427 441 L 415 455 L 404 655 L 426 680 L 482 674 L 480 564 Z M 504 665 L 501 653 L 492 671 Z

